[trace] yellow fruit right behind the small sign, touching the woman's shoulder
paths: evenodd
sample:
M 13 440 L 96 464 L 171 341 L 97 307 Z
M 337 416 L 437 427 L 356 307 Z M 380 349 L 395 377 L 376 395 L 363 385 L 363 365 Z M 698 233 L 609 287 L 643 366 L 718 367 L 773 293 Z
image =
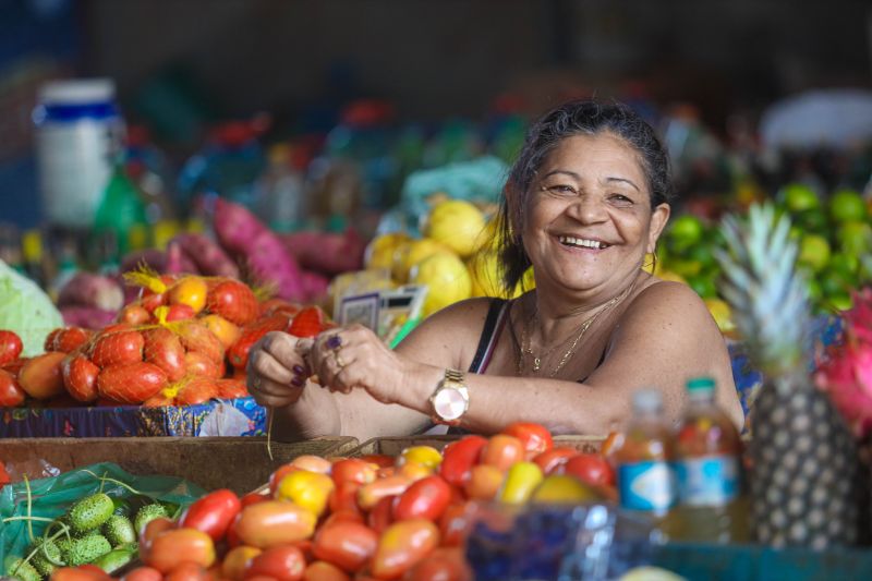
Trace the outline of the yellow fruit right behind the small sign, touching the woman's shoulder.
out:
M 469 299 L 472 293 L 472 279 L 467 265 L 450 253 L 437 253 L 417 263 L 412 268 L 410 282 L 427 286 L 423 308 L 425 317 L 449 304 Z

